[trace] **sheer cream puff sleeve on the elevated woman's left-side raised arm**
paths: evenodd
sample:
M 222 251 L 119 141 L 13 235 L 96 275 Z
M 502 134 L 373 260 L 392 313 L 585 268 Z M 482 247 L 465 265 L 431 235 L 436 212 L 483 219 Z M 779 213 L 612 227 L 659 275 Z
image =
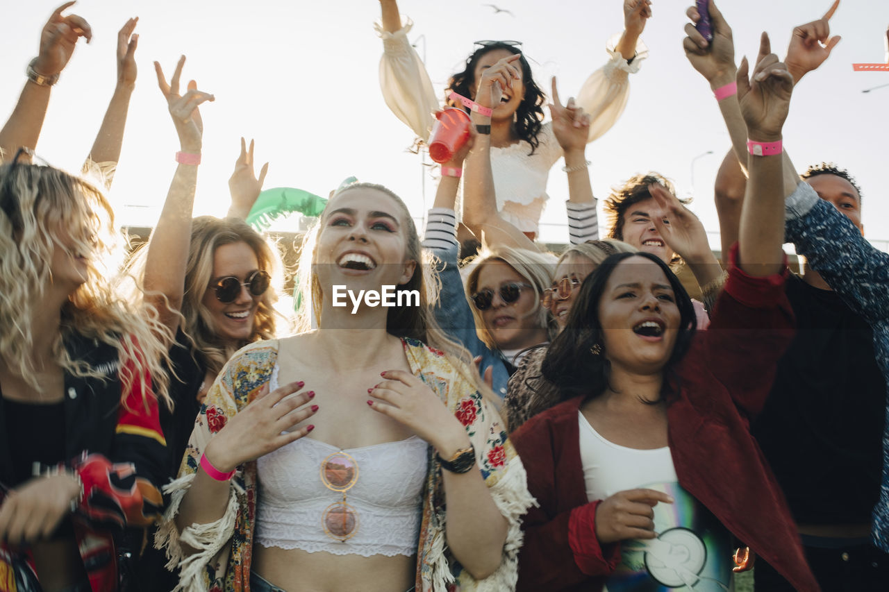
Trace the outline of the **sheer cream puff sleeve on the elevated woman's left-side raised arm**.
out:
M 407 124 L 422 140 L 428 140 L 434 117 L 441 108 L 426 66 L 407 40 L 413 27 L 410 19 L 395 33 L 383 30 L 380 23 L 373 28 L 383 40 L 380 58 L 380 89 L 388 108 Z

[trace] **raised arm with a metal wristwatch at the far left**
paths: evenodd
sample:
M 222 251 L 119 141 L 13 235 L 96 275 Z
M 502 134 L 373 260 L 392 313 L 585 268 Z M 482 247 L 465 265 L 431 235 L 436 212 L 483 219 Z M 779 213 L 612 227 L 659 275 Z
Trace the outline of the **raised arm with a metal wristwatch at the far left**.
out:
M 62 16 L 74 2 L 62 4 L 52 12 L 40 34 L 40 52 L 28 68 L 28 82 L 22 89 L 19 102 L 0 130 L 0 156 L 11 158 L 19 148 L 34 149 L 44 126 L 50 88 L 59 75 L 80 37 L 87 43 L 92 39 L 90 24 L 76 14 Z

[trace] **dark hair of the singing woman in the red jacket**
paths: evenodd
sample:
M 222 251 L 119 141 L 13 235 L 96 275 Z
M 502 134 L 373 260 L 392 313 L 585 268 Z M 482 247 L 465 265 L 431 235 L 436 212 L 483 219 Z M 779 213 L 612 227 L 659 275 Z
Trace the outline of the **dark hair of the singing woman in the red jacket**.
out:
M 667 276 L 670 287 L 676 295 L 679 308 L 679 334 L 673 352 L 664 366 L 665 377 L 671 376 L 677 363 L 685 356 L 696 330 L 696 320 L 692 299 L 679 278 L 666 263 L 649 252 L 619 252 L 604 260 L 593 273 L 589 274 L 578 292 L 577 300 L 568 313 L 565 330 L 559 333 L 549 345 L 549 351 L 541 364 L 543 376 L 559 389 L 561 400 L 573 396 L 586 395 L 589 398 L 601 396 L 609 388 L 611 364 L 605 357 L 605 335 L 599 322 L 599 303 L 605 293 L 605 284 L 614 270 L 631 257 L 652 260 Z M 591 348 L 601 348 L 600 354 L 593 354 Z M 668 388 L 669 380 L 664 380 Z M 668 398 L 668 392 L 661 392 L 661 400 Z M 645 403 L 657 401 L 645 400 Z

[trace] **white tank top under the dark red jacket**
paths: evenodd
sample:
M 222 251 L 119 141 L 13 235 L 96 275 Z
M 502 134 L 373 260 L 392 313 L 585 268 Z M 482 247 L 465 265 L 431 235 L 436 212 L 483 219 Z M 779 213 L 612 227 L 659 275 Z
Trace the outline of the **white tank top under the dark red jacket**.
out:
M 614 493 L 651 483 L 672 483 L 679 479 L 673 467 L 669 446 L 638 450 L 609 442 L 577 413 L 581 428 L 581 467 L 587 486 L 587 500 L 605 500 Z

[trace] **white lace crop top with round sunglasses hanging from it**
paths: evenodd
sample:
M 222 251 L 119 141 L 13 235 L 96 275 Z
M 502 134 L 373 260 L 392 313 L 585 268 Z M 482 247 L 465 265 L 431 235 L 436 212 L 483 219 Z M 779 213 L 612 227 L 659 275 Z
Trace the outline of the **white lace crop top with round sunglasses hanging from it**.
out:
M 274 372 L 272 382 L 276 379 Z M 325 522 L 328 508 L 343 501 L 343 492 L 329 489 L 322 478 L 322 464 L 337 452 L 346 452 L 357 466 L 354 484 L 345 492 L 355 516 L 346 540 L 328 534 Z M 428 473 L 428 444 L 419 437 L 345 451 L 304 437 L 260 457 L 257 466 L 256 540 L 263 547 L 364 557 L 417 553 Z

